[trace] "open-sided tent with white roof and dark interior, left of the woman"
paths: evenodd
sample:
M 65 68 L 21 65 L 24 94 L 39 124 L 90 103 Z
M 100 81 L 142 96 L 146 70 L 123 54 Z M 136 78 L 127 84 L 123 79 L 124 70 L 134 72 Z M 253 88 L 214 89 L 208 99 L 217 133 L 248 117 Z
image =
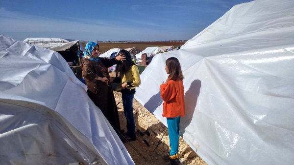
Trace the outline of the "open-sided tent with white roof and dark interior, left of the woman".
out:
M 27 38 L 24 42 L 58 52 L 68 62 L 77 77 L 82 78 L 82 57 L 78 56 L 78 50 L 84 52 L 85 49 L 79 41 L 70 42 L 59 38 Z

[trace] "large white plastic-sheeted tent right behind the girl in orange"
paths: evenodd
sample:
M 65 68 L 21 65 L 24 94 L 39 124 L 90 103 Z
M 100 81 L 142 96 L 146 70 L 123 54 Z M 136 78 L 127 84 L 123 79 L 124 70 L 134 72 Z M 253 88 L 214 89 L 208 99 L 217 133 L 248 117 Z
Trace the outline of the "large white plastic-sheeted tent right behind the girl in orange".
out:
M 135 98 L 163 124 L 165 61 L 185 76 L 181 136 L 207 164 L 294 164 L 294 1 L 234 6 L 180 50 L 156 55 Z

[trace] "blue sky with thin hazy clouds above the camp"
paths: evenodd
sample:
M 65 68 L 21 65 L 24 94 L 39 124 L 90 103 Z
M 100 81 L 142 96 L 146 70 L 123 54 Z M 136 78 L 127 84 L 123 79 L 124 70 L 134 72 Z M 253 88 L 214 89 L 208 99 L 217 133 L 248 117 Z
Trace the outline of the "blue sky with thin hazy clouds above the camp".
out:
M 0 34 L 84 41 L 189 40 L 251 0 L 1 0 Z

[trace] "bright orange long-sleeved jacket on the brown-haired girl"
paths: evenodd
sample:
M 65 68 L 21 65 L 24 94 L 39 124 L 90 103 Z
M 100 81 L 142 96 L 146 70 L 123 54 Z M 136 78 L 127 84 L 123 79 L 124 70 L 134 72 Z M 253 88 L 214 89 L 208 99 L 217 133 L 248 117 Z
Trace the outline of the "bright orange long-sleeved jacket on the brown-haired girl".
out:
M 163 103 L 163 117 L 176 118 L 185 116 L 184 85 L 183 81 L 170 80 L 160 85 Z

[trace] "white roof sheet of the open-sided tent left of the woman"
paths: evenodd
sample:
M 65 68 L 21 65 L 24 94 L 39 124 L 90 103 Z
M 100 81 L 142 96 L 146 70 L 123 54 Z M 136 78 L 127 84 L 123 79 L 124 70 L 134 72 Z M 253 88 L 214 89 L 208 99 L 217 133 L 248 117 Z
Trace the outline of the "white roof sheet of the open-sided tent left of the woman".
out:
M 27 38 L 24 40 L 24 42 L 33 44 L 39 47 L 47 48 L 50 50 L 54 50 L 56 52 L 65 51 L 71 48 L 73 45 L 75 45 L 78 42 L 80 50 L 82 52 L 85 51 L 82 44 L 78 40 L 70 42 L 70 41 L 67 41 L 64 39 L 58 39 L 58 38 Z

